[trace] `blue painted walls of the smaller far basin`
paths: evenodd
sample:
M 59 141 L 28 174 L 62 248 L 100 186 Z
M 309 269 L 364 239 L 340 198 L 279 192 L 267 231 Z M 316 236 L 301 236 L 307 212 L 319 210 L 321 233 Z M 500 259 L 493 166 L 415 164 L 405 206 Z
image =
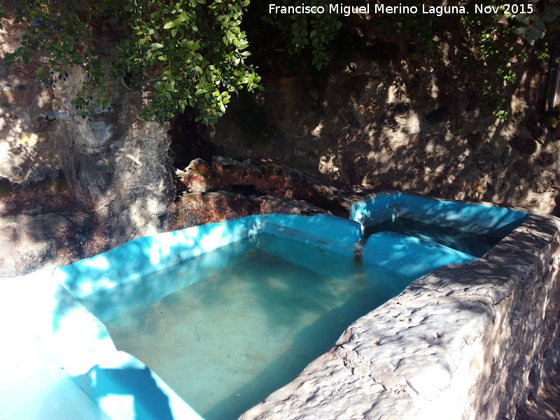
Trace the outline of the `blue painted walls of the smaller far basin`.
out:
M 435 200 L 403 193 L 379 194 L 352 205 L 350 218 L 362 229 L 396 217 L 447 226 L 503 238 L 527 218 L 523 211 L 480 204 Z M 450 264 L 468 264 L 477 258 L 433 241 L 395 232 L 371 235 L 363 246 L 363 260 L 400 274 L 421 277 Z

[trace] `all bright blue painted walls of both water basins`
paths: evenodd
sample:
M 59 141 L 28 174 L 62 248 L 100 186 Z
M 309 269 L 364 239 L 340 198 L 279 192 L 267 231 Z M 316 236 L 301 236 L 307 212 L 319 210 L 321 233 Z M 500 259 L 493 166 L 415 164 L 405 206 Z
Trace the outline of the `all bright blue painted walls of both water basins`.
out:
M 327 214 L 312 217 L 256 215 L 134 239 L 92 258 L 55 269 L 53 278 L 64 286 L 60 310 L 52 320 L 55 351 L 76 383 L 112 419 L 203 420 L 148 367 L 130 354 L 117 351 L 102 321 L 135 309 L 137 293 L 158 300 L 200 280 L 200 273 L 218 271 L 236 261 L 243 253 L 242 248 L 232 249 L 221 258 L 207 253 L 246 237 L 262 233 L 287 237 L 352 257 L 356 244 L 363 239 L 363 228 L 403 214 L 443 225 L 507 233 L 526 216 L 497 207 L 396 193 L 354 204 L 352 220 Z M 268 251 L 274 252 L 274 249 Z M 475 260 L 445 246 L 392 232 L 372 235 L 362 253 L 367 262 L 407 276 L 421 276 L 441 265 Z M 288 254 L 281 256 L 306 265 L 305 255 Z M 192 267 L 176 268 L 186 270 L 179 276 L 181 281 L 158 276 L 158 270 L 193 258 Z M 200 269 L 201 265 L 204 270 Z M 143 281 L 137 281 L 140 278 Z M 107 304 L 111 300 L 118 304 Z M 113 394 L 133 395 L 134 412 L 100 402 L 104 396 Z

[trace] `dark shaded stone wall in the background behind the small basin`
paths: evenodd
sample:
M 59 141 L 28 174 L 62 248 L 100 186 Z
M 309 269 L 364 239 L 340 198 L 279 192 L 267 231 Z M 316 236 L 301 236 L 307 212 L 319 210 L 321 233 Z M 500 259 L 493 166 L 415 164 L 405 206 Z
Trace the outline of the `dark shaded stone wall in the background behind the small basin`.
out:
M 552 211 L 560 142 L 543 113 L 547 63 L 512 66 L 509 118 L 497 123 L 480 104 L 475 71 L 458 64 L 458 45 L 433 58 L 374 26 L 347 22 L 343 33 L 353 33 L 321 73 L 304 58 L 299 69 L 258 63 L 266 92 L 240 95 L 211 127 L 217 152 L 365 188 Z

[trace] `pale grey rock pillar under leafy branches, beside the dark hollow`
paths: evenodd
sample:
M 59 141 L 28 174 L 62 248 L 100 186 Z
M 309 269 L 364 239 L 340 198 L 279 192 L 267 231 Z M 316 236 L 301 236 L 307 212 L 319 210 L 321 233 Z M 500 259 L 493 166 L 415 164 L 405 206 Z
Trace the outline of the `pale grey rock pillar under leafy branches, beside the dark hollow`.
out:
M 174 197 L 169 127 L 147 123 L 139 113 L 147 100 L 118 80 L 108 83 L 111 110 L 78 118 L 70 104 L 83 79 L 80 69 L 57 83 L 55 104 L 71 118 L 57 121 L 55 139 L 80 207 L 103 222 L 107 246 L 159 232 Z

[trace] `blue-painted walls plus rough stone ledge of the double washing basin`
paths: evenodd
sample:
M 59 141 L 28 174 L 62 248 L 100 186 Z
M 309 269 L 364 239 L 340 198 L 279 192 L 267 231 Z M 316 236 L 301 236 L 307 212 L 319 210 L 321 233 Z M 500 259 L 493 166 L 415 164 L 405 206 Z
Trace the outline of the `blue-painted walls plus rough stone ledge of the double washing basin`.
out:
M 514 231 L 478 259 L 399 235 L 373 235 L 364 245 L 367 225 L 395 214 L 492 235 Z M 350 325 L 330 351 L 241 419 L 511 415 L 526 390 L 538 386 L 545 376 L 542 360 L 547 360 L 545 351 L 554 348 L 557 337 L 557 327 L 549 316 L 549 311 L 557 309 L 552 303 L 560 301 L 554 282 L 559 243 L 556 219 L 402 194 L 358 202 L 351 218 L 353 221 L 329 215 L 248 216 L 134 239 L 60 267 L 52 274 L 52 280 L 63 286 L 58 288 L 58 304 L 52 313 L 52 347 L 66 372 L 94 400 L 111 388 L 120 395 L 133 395 L 135 412 L 144 413 L 143 419 L 158 419 L 153 407 L 162 404 L 171 413 L 169 418 L 202 419 L 143 363 L 117 351 L 104 325 L 82 301 L 260 232 L 305 241 L 349 258 L 361 243 L 363 259 L 379 265 L 393 264 L 389 257 L 398 249 L 428 256 L 426 250 L 432 249 L 440 256 L 414 267 L 414 276 L 422 276 L 420 279 Z M 388 267 L 401 269 L 403 262 Z M 550 354 L 555 353 L 549 353 L 549 358 L 553 357 Z M 132 381 L 122 375 L 96 379 L 92 372 L 99 366 L 144 379 Z M 512 367 L 521 373 L 496 376 Z M 106 388 L 98 388 L 99 384 Z M 146 390 L 153 387 L 158 388 L 158 395 L 165 395 L 164 402 L 151 400 L 154 394 Z M 134 418 L 122 407 L 105 405 L 102 409 L 113 419 Z

